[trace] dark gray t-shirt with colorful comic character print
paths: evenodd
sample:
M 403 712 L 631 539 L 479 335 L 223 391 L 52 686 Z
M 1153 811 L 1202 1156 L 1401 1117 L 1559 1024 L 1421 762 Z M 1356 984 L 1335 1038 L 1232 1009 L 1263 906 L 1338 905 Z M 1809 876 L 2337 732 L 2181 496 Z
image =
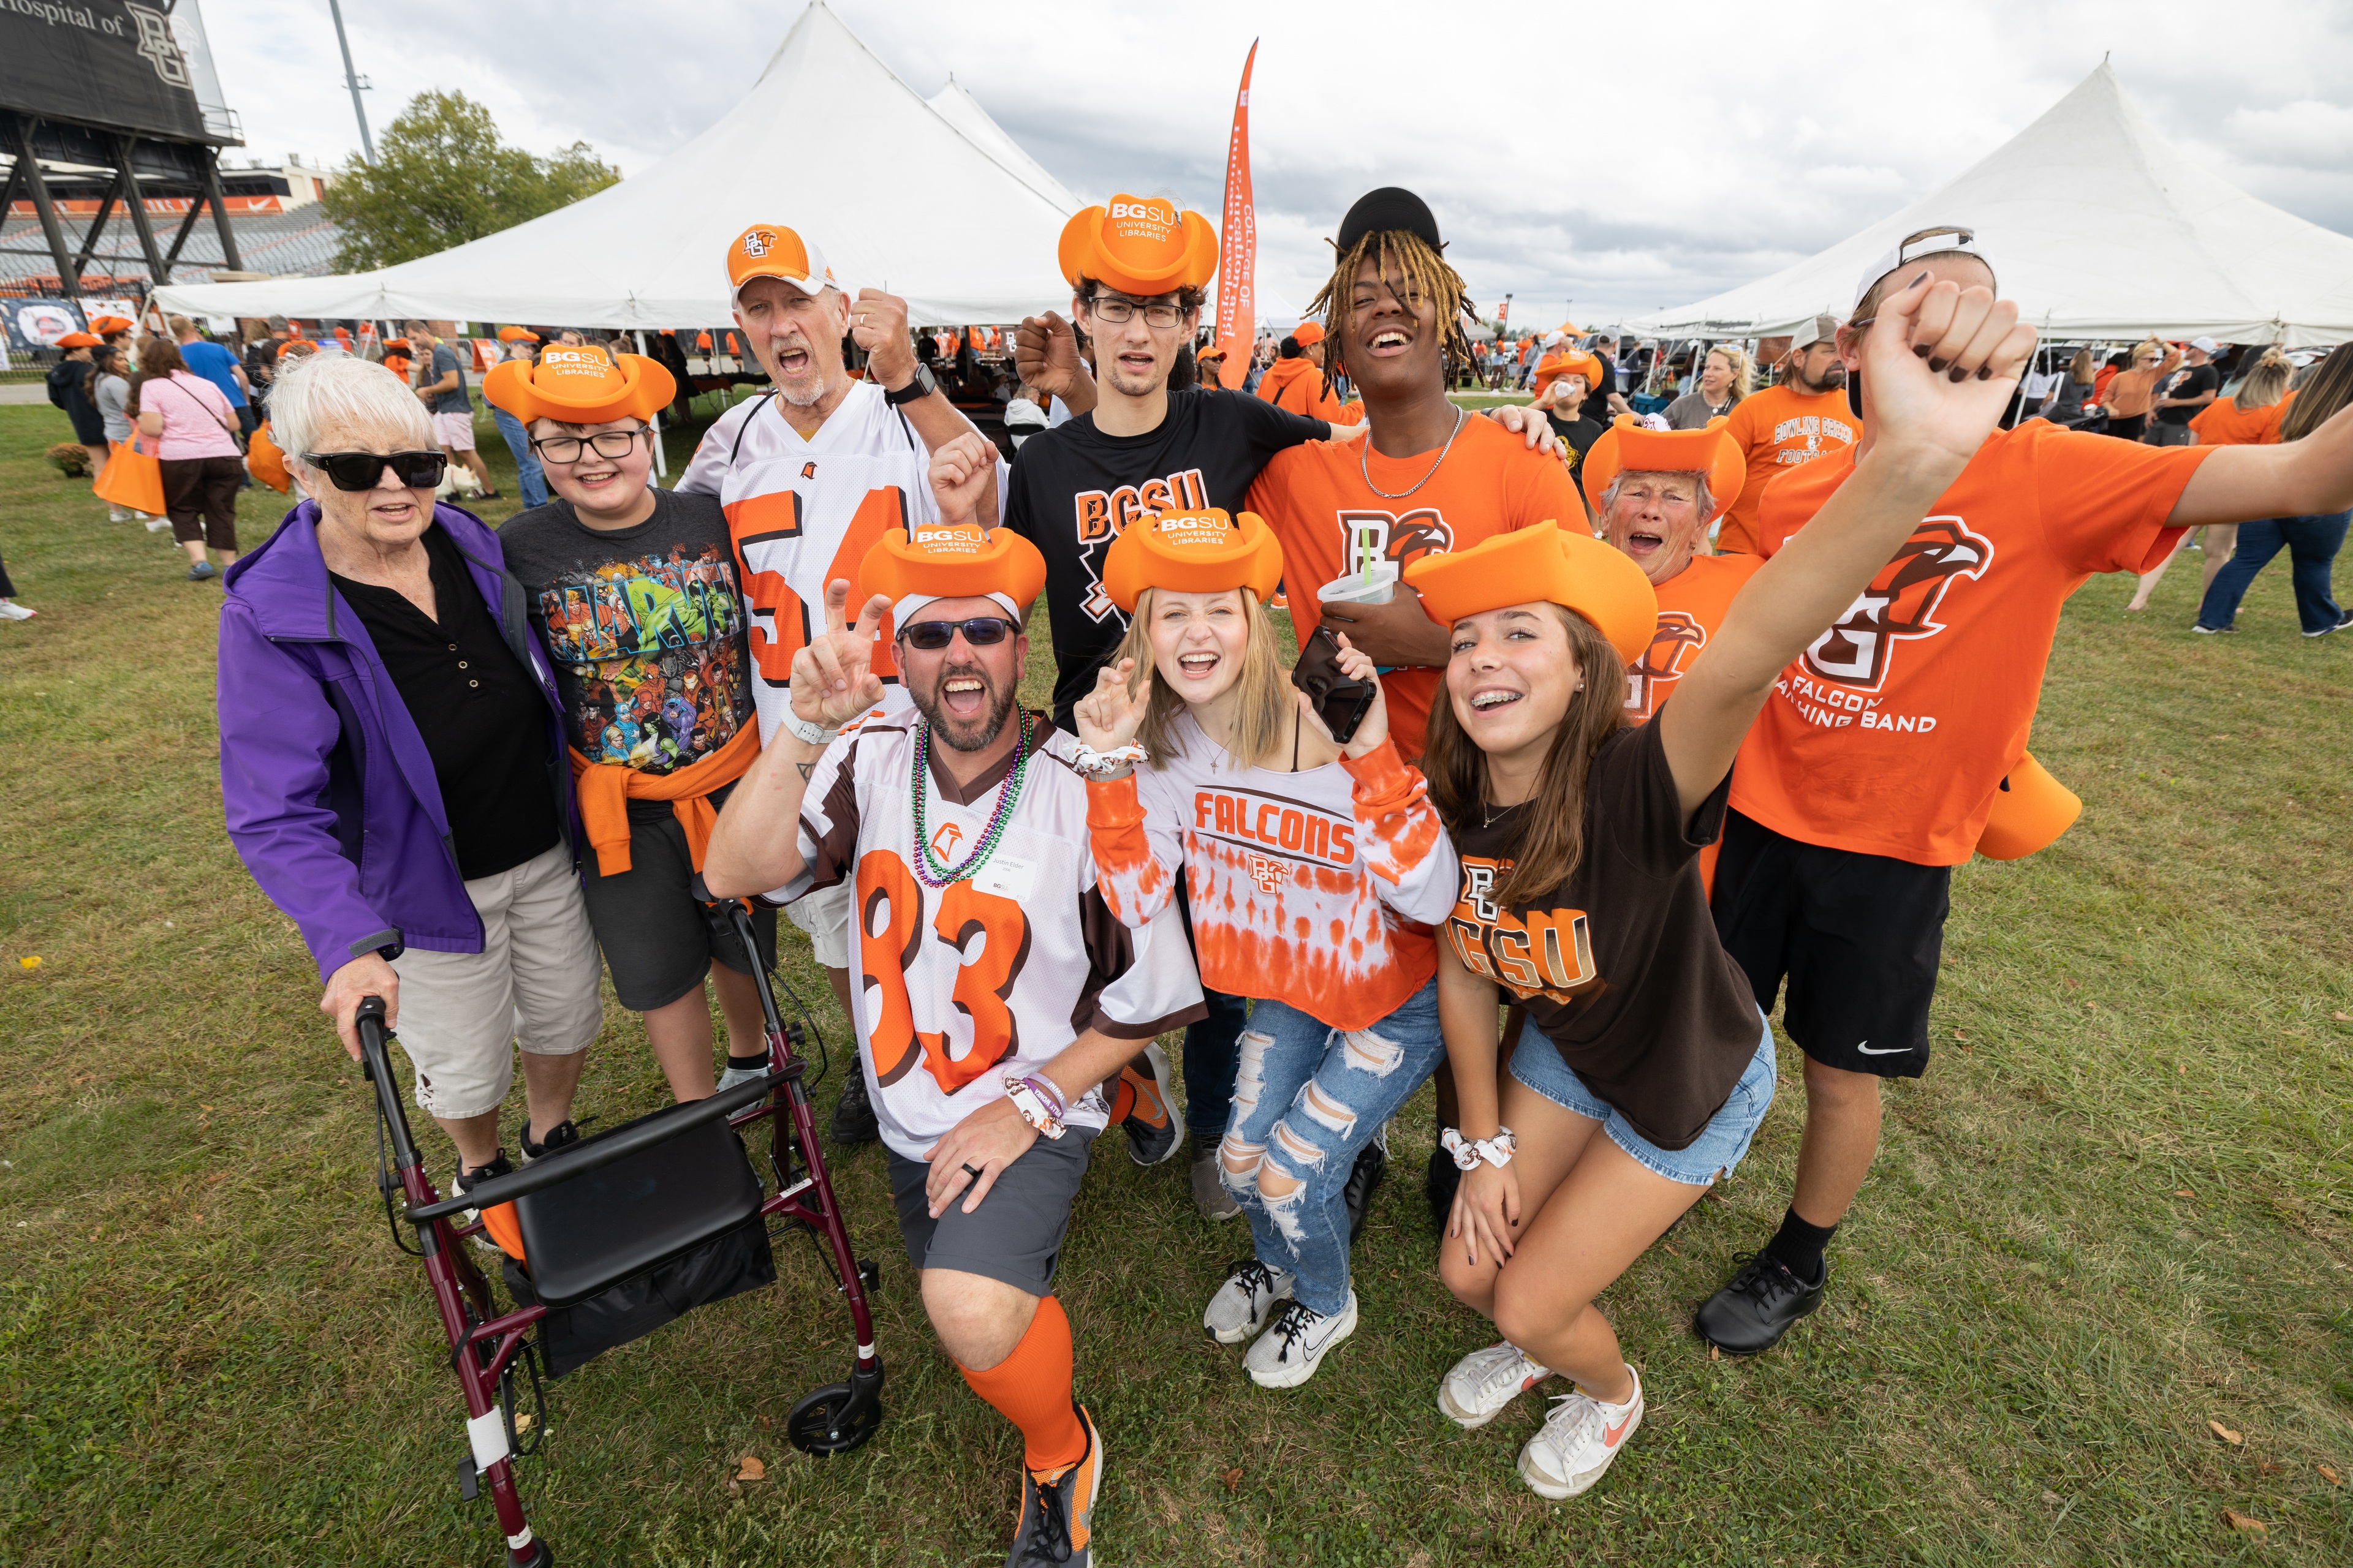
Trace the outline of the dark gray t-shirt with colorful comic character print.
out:
M 612 531 L 551 501 L 508 517 L 499 548 L 555 663 L 565 736 L 588 762 L 668 773 L 751 722 L 744 602 L 718 496 L 656 489 L 652 517 Z

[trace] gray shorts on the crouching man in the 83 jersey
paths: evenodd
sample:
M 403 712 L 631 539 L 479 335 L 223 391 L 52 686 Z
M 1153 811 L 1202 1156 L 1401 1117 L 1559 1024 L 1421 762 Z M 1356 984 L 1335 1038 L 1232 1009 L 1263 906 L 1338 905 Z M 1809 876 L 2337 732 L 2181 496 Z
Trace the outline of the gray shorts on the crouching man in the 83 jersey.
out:
M 1078 1182 L 1087 1175 L 1087 1145 L 1094 1138 L 1089 1128 L 1075 1126 L 1061 1138 L 1040 1138 L 1028 1154 L 998 1173 L 998 1185 L 979 1208 L 965 1213 L 965 1197 L 958 1192 L 948 1213 L 936 1220 L 922 1194 L 932 1166 L 885 1150 L 906 1260 L 918 1269 L 960 1269 L 998 1279 L 1014 1291 L 1049 1295 L 1061 1237 L 1071 1229 L 1071 1201 L 1078 1199 Z

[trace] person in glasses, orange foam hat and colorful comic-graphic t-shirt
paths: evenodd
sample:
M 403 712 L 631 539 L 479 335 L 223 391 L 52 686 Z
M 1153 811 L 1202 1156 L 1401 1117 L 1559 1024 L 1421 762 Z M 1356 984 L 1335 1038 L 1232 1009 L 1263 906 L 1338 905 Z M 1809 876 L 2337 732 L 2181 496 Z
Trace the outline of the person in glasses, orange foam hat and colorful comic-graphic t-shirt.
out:
M 649 418 L 675 383 L 659 362 L 602 348 L 506 360 L 482 395 L 522 421 L 555 501 L 499 529 L 565 701 L 581 827 L 581 882 L 621 1006 L 645 1013 L 671 1093 L 713 1091 L 711 976 L 727 1018 L 727 1074 L 767 1070 L 751 964 L 760 954 L 689 884 L 718 806 L 760 755 L 741 585 L 715 496 L 647 487 Z M 718 959 L 718 964 L 713 964 Z

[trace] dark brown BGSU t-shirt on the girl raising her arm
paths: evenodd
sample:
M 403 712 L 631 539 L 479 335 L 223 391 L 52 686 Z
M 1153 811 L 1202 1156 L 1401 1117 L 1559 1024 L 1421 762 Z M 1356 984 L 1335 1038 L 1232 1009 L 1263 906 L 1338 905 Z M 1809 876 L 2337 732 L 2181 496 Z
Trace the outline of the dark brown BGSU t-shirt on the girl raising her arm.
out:
M 1729 783 L 1729 776 L 1727 776 Z M 1527 1004 L 1586 1088 L 1661 1150 L 1689 1147 L 1755 1056 L 1748 976 L 1715 940 L 1699 851 L 1725 825 L 1725 783 L 1689 818 L 1659 726 L 1621 729 L 1586 778 L 1586 853 L 1529 905 L 1497 907 L 1527 806 L 1454 830 L 1454 954 Z

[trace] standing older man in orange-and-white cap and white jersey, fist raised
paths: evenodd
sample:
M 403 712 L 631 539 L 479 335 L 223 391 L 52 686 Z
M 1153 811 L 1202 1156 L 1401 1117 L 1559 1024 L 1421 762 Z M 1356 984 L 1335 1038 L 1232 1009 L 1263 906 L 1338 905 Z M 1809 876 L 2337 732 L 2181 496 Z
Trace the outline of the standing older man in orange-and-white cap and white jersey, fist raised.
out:
M 809 235 L 753 223 L 727 244 L 734 317 L 774 383 L 713 421 L 678 489 L 718 496 L 727 510 L 751 614 L 753 701 L 762 743 L 791 708 L 793 656 L 824 632 L 826 583 L 856 574 L 866 550 L 894 527 L 936 522 L 925 482 L 929 456 L 972 421 L 915 362 L 906 301 L 880 289 L 852 299 Z M 866 374 L 842 362 L 842 339 L 866 350 Z M 991 475 L 1000 515 L 1005 465 Z M 887 642 L 885 642 L 887 649 Z M 882 708 L 904 710 L 899 672 L 885 651 Z M 826 889 L 793 905 L 833 999 L 849 1011 L 849 893 Z M 852 1077 L 833 1114 L 835 1143 L 875 1135 L 864 1088 Z

